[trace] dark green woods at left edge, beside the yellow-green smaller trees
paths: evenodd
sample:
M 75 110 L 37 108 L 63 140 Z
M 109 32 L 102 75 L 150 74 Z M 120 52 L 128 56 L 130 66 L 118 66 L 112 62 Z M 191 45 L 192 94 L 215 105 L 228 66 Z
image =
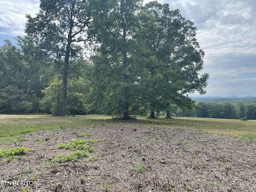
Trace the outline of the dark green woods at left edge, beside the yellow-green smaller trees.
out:
M 36 50 L 31 42 L 20 37 L 16 40 L 19 48 L 8 40 L 0 47 L 0 112 L 38 112 L 38 99 L 42 97 L 42 66 L 32 53 Z

